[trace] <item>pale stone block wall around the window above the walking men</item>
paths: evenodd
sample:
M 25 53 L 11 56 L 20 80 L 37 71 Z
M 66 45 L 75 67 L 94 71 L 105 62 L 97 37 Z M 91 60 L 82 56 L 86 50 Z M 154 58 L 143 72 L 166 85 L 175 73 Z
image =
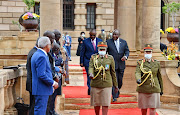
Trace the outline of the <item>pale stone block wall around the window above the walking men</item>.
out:
M 72 36 L 72 54 L 76 53 L 78 46 L 78 37 L 80 32 L 84 31 L 86 37 L 89 37 L 89 30 L 86 30 L 86 4 L 96 3 L 96 30 L 97 36 L 101 29 L 105 29 L 106 34 L 110 30 L 114 29 L 114 0 L 75 0 L 75 19 L 74 19 L 74 30 L 63 30 L 69 32 Z

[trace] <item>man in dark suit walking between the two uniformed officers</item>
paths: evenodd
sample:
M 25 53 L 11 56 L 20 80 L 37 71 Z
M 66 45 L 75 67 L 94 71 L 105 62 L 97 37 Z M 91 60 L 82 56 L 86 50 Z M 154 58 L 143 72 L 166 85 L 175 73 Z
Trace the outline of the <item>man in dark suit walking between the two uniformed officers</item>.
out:
M 120 36 L 120 31 L 117 29 L 114 30 L 113 38 L 107 40 L 107 44 L 108 44 L 107 52 L 109 53 L 109 55 L 112 55 L 114 57 L 118 88 L 121 89 L 123 84 L 122 80 L 125 69 L 125 60 L 127 60 L 129 56 L 129 48 L 127 42 L 119 38 L 119 36 Z M 116 98 L 119 97 L 119 92 L 116 94 L 113 88 L 112 95 L 113 95 L 113 101 L 116 101 L 117 100 Z

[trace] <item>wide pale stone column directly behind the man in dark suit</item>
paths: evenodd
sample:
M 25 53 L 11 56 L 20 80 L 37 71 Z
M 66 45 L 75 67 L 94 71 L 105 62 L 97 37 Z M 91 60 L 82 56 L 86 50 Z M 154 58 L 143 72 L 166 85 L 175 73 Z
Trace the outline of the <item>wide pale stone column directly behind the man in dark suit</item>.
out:
M 136 54 L 136 0 L 119 0 L 117 14 L 117 29 L 121 38 L 126 40 L 130 49 L 130 56 Z M 116 6 L 116 5 L 115 5 Z

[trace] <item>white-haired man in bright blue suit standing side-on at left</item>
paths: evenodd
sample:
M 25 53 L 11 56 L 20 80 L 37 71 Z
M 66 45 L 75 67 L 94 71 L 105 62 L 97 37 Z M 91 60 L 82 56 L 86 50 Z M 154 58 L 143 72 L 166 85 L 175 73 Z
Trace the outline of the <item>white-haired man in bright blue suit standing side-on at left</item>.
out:
M 58 83 L 53 80 L 51 66 L 47 53 L 51 49 L 48 37 L 40 37 L 39 49 L 31 59 L 32 70 L 32 95 L 35 97 L 34 115 L 45 115 L 49 95 L 58 88 Z

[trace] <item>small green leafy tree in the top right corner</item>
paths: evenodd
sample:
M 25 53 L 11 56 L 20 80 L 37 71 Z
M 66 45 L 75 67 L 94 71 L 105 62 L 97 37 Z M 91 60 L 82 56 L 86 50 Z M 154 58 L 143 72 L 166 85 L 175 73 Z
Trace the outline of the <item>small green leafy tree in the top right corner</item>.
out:
M 162 7 L 163 13 L 168 13 L 172 16 L 173 28 L 174 28 L 174 24 L 176 22 L 176 16 L 179 10 L 180 10 L 180 3 L 175 3 L 175 2 L 165 4 L 165 6 Z

